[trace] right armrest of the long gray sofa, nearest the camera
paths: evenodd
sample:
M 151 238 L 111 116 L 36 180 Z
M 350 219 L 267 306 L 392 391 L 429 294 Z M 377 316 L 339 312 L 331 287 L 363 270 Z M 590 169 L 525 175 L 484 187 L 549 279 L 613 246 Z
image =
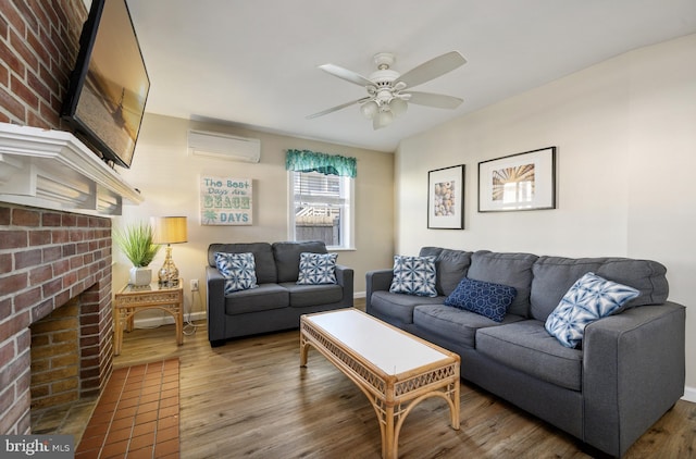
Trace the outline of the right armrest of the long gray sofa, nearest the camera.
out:
M 583 339 L 585 442 L 621 457 L 684 394 L 686 309 L 641 306 Z

